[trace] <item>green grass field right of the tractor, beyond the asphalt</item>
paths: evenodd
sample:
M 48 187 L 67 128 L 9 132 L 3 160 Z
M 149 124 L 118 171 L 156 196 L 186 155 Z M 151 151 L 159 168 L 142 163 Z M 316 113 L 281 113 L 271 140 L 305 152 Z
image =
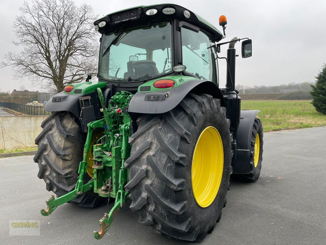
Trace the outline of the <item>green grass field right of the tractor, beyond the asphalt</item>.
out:
M 244 100 L 241 108 L 260 110 L 264 132 L 326 125 L 326 115 L 316 112 L 310 100 Z

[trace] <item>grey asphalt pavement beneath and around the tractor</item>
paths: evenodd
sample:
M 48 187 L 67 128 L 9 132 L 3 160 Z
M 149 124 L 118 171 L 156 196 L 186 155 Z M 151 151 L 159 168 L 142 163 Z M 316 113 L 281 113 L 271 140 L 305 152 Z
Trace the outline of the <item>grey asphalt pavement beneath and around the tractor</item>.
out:
M 265 133 L 259 180 L 231 182 L 222 219 L 201 244 L 326 244 L 325 159 L 326 127 Z M 111 204 L 63 204 L 44 217 L 39 210 L 51 193 L 33 156 L 2 158 L 0 168 L 0 244 L 190 244 L 154 233 L 128 206 L 97 241 L 93 231 Z M 9 236 L 13 220 L 37 220 L 40 236 Z

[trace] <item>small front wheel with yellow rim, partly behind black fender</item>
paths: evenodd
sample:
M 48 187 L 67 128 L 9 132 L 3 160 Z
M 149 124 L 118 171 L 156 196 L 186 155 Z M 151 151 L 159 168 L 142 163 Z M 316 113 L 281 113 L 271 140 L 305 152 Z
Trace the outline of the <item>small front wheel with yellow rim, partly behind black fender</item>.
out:
M 251 132 L 250 173 L 231 174 L 232 179 L 246 182 L 256 182 L 258 180 L 263 160 L 263 144 L 263 126 L 261 121 L 256 118 Z

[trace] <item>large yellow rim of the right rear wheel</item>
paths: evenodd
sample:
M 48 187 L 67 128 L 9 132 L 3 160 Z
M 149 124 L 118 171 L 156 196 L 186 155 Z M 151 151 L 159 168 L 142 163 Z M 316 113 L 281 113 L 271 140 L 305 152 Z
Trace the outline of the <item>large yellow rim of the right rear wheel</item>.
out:
M 215 127 L 205 128 L 196 143 L 191 166 L 191 186 L 196 203 L 208 207 L 220 188 L 223 173 L 223 144 Z

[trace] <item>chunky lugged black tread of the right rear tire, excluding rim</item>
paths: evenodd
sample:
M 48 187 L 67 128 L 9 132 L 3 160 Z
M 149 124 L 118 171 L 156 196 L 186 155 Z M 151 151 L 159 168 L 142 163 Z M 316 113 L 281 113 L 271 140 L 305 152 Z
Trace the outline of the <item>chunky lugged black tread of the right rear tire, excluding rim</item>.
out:
M 130 208 L 138 211 L 139 221 L 151 226 L 157 233 L 181 240 L 201 241 L 221 217 L 226 199 L 223 199 L 214 222 L 200 228 L 194 224 L 192 217 L 185 217 L 188 202 L 177 198 L 181 192 L 188 192 L 185 179 L 180 174 L 177 176 L 176 172 L 188 164 L 190 155 L 185 155 L 180 150 L 182 147 L 175 145 L 186 147 L 193 141 L 189 123 L 197 126 L 200 117 L 213 108 L 217 112 L 222 111 L 219 123 L 224 125 L 224 137 L 230 140 L 230 120 L 226 119 L 226 108 L 220 106 L 218 99 L 207 94 L 190 93 L 169 112 L 143 115 L 137 119 L 138 130 L 129 138 L 131 156 L 125 162 L 125 167 L 129 169 L 126 189 L 131 193 Z M 231 153 L 231 148 L 229 150 Z M 226 195 L 230 166 L 225 168 L 224 174 L 228 177 L 226 183 L 221 183 L 221 189 Z

